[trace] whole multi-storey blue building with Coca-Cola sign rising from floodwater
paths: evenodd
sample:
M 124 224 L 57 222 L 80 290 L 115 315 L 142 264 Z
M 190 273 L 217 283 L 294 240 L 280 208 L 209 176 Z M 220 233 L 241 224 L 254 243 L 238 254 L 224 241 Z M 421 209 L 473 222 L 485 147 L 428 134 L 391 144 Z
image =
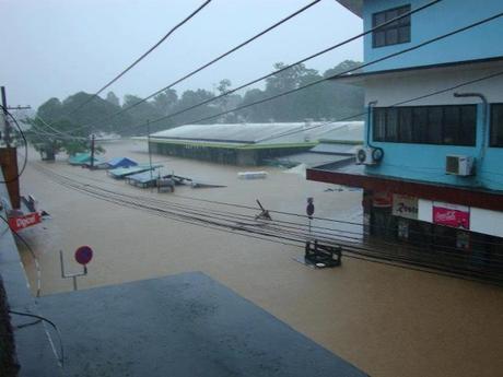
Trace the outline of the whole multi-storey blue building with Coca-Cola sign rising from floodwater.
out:
M 367 31 L 429 1 L 339 2 Z M 364 60 L 502 11 L 501 0 L 438 2 L 366 35 Z M 363 188 L 372 235 L 431 245 L 445 251 L 431 260 L 448 256 L 448 266 L 502 275 L 502 31 L 503 19 L 494 19 L 336 79 L 365 87 L 365 148 L 360 165 L 317 166 L 307 179 Z

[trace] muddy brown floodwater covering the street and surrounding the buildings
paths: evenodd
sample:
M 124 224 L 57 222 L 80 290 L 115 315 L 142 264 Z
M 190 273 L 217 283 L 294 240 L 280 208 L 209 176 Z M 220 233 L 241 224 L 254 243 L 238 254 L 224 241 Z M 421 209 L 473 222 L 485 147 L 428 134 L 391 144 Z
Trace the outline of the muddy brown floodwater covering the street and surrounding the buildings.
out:
M 110 143 L 105 149 L 107 157 L 148 162 L 147 148 L 139 141 Z M 177 187 L 174 195 L 159 195 L 116 181 L 103 170 L 69 166 L 63 160 L 44 166 L 114 191 L 187 205 L 222 209 L 187 197 L 245 205 L 256 205 L 259 199 L 266 209 L 303 214 L 306 198 L 313 197 L 317 216 L 361 221 L 360 191 L 326 191 L 335 187 L 280 168 L 258 168 L 269 173 L 267 179 L 238 180 L 237 173 L 249 168 L 162 155 L 153 160 L 165 166 L 166 174 L 174 170 L 227 187 Z M 95 255 L 89 275 L 78 281 L 79 288 L 202 271 L 371 376 L 492 377 L 503 373 L 500 287 L 349 258 L 341 268 L 313 270 L 294 261 L 302 256 L 301 248 L 98 200 L 49 180 L 39 172 L 35 153 L 31 161 L 22 176 L 22 191 L 34 195 L 51 215 L 23 232 L 40 262 L 43 295 L 72 290 L 71 280 L 61 279 L 59 250 L 68 272 L 79 272 L 73 252 L 90 245 Z M 22 257 L 35 287 L 33 260 L 26 250 Z

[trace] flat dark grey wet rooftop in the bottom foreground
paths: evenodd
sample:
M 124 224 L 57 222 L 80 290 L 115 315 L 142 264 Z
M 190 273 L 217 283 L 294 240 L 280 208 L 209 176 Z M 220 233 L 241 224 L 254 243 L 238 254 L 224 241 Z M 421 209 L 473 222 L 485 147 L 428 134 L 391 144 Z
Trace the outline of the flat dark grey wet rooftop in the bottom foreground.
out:
M 69 377 L 366 376 L 200 272 L 45 296 L 40 310 Z

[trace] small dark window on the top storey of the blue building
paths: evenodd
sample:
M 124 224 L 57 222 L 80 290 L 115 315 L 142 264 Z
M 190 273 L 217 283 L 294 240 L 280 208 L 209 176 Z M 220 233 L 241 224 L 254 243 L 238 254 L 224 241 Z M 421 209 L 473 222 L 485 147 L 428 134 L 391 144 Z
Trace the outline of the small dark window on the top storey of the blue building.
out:
M 372 16 L 372 27 L 377 27 L 408 12 L 410 12 L 410 5 L 374 13 Z M 410 42 L 410 15 L 391 22 L 372 34 L 372 45 L 374 47 L 405 44 L 408 42 Z

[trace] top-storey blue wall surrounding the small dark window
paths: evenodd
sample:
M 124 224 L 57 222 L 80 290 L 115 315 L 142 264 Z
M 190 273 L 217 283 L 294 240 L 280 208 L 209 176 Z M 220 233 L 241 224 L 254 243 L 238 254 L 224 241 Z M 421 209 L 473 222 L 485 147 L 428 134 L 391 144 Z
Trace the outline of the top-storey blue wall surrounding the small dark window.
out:
M 416 9 L 430 1 L 364 0 L 364 28 L 372 27 L 372 14 L 375 12 L 406 4 L 411 4 L 411 8 Z M 373 48 L 372 35 L 365 36 L 365 62 L 412 47 L 500 12 L 503 12 L 503 0 L 444 0 L 412 15 L 410 43 Z M 503 56 L 502 36 L 503 17 L 500 17 L 414 51 L 370 66 L 365 71 L 501 57 Z

